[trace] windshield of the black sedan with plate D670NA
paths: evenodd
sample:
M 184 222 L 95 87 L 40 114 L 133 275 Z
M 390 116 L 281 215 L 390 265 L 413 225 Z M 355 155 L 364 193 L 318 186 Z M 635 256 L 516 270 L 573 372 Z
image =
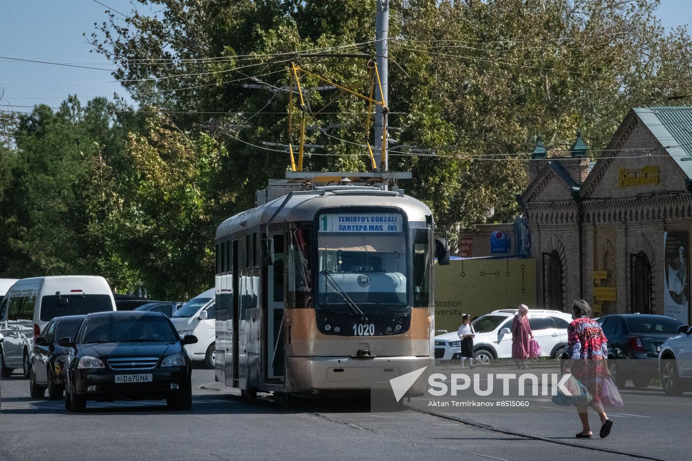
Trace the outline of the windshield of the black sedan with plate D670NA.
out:
M 81 331 L 81 343 L 174 343 L 178 340 L 170 320 L 159 316 L 89 318 Z

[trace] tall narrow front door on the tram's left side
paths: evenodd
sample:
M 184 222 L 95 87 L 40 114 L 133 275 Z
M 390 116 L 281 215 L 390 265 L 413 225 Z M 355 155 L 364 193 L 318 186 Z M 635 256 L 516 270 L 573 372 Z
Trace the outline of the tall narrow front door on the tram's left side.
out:
M 270 383 L 284 381 L 284 235 L 273 234 L 274 264 L 267 271 L 266 377 Z

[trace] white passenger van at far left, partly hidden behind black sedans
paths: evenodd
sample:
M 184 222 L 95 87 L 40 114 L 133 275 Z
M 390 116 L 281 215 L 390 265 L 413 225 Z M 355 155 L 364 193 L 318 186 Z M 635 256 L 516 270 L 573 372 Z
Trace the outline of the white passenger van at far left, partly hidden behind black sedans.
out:
M 33 338 L 53 318 L 114 310 L 113 292 L 102 277 L 57 275 L 17 280 L 0 304 L 0 334 L 5 336 L 0 349 L 3 374 L 21 368 L 28 377 Z

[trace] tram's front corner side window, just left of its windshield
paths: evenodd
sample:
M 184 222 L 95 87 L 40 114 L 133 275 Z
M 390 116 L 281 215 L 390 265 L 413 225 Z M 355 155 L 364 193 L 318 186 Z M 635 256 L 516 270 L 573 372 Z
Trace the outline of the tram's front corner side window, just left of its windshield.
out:
M 309 229 L 289 231 L 288 296 L 289 307 L 311 307 L 310 232 Z

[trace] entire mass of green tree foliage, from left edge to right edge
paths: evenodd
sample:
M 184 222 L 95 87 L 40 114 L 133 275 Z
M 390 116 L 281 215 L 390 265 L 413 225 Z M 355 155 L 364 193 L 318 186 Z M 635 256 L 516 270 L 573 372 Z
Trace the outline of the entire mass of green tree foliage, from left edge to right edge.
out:
M 692 42 L 684 26 L 666 33 L 658 3 L 392 1 L 390 169 L 415 178 L 400 186 L 453 233 L 491 209 L 506 222 L 537 134 L 555 154 L 581 129 L 598 156 L 630 107 L 689 102 Z M 134 4 L 158 12 L 111 15 L 90 39 L 142 109 L 71 97 L 0 118 L 2 275 L 100 273 L 120 291 L 196 294 L 216 226 L 289 168 L 263 144 L 298 143 L 289 63 L 370 93 L 367 60 L 295 51 L 374 53 L 374 0 Z M 365 170 L 367 103 L 300 84 L 306 142 L 323 146 L 304 166 Z

